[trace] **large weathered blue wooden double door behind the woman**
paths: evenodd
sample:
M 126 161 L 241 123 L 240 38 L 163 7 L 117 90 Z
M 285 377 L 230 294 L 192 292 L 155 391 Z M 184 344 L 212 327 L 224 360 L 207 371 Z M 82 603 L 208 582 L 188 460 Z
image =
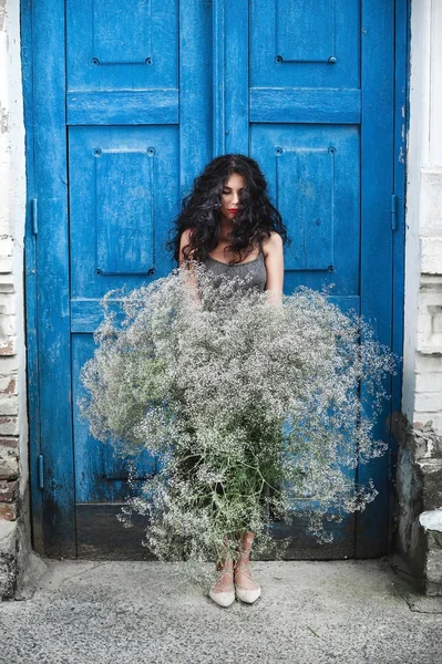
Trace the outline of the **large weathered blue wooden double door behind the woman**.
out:
M 294 240 L 286 292 L 332 282 L 332 299 L 366 314 L 388 343 L 393 0 L 35 0 L 29 13 L 38 35 L 32 187 L 47 219 L 32 245 L 43 364 L 35 532 L 49 554 L 146 557 L 143 519 L 124 529 L 115 518 L 136 490 L 127 459 L 94 440 L 78 412 L 100 298 L 171 271 L 164 240 L 182 197 L 213 156 L 240 152 L 261 165 Z M 51 298 L 66 313 L 45 326 Z M 376 434 L 388 437 L 382 422 Z M 141 486 L 156 459 L 146 450 L 136 467 Z M 360 483 L 373 477 L 380 497 L 331 544 L 317 546 L 298 521 L 294 558 L 384 552 L 388 457 L 356 473 Z M 280 525 L 277 535 L 287 531 Z

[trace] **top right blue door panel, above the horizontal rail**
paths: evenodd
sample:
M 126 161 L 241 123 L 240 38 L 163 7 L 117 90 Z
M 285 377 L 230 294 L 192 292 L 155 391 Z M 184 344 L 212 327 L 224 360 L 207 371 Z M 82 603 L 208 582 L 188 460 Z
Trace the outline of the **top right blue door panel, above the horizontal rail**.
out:
M 255 0 L 250 37 L 253 87 L 359 87 L 359 0 Z

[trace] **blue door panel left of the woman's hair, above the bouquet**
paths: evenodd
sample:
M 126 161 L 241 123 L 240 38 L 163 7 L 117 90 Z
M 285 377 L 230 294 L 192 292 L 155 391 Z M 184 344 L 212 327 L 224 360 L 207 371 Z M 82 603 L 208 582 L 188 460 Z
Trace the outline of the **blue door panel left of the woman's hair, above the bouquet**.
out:
M 169 269 L 163 245 L 179 198 L 178 142 L 177 125 L 70 127 L 75 301 Z

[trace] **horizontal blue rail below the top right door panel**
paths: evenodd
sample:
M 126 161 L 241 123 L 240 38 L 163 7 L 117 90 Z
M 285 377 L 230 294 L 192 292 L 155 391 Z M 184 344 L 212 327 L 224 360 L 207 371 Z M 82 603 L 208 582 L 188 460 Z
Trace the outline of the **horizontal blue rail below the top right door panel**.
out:
M 360 90 L 250 87 L 250 122 L 356 124 Z

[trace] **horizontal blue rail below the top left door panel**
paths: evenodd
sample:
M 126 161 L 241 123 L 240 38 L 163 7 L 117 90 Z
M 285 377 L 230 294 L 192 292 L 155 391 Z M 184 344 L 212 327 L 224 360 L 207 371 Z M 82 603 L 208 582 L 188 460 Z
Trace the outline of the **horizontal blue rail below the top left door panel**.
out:
M 69 92 L 68 124 L 177 124 L 177 90 Z

